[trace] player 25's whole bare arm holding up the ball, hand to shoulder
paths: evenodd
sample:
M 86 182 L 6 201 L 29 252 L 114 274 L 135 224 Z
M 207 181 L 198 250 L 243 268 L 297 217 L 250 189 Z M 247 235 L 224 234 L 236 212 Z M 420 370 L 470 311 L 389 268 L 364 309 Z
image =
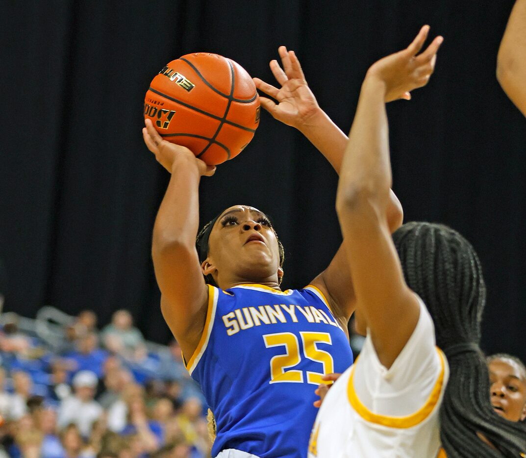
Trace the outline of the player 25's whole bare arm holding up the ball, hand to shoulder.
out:
M 161 291 L 161 311 L 188 361 L 205 326 L 208 289 L 195 239 L 199 225 L 199 180 L 213 175 L 184 146 L 169 143 L 146 120 L 143 137 L 157 161 L 171 172 L 154 224 L 151 255 Z

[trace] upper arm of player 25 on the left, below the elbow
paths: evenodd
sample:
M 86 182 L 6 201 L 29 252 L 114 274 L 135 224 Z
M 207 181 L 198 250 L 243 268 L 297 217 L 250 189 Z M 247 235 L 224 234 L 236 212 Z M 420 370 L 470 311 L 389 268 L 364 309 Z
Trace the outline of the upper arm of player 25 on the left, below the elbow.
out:
M 192 354 L 205 325 L 208 288 L 194 247 L 152 249 L 161 311 L 185 355 Z

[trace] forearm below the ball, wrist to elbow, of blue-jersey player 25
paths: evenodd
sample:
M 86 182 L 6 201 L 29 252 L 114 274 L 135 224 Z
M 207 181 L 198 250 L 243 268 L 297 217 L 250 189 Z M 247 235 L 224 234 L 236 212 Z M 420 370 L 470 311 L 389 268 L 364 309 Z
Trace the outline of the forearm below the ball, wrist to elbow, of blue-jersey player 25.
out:
M 154 224 L 153 248 L 195 243 L 199 226 L 200 174 L 194 158 L 178 157 Z

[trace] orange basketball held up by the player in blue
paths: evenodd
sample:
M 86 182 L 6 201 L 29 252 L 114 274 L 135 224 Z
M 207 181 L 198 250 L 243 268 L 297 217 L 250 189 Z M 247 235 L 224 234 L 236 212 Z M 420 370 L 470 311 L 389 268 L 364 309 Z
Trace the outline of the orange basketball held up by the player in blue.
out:
M 208 165 L 236 157 L 259 124 L 259 96 L 247 71 L 226 57 L 187 54 L 168 63 L 146 92 L 144 116 L 169 142 Z

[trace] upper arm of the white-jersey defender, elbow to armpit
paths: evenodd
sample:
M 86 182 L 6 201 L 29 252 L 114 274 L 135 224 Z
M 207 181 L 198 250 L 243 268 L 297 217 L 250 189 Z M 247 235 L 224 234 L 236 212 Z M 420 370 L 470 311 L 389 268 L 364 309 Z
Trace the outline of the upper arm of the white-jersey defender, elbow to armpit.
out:
M 419 304 L 403 278 L 385 211 L 365 201 L 340 215 L 356 307 L 365 318 L 380 362 L 389 367 L 417 324 Z

